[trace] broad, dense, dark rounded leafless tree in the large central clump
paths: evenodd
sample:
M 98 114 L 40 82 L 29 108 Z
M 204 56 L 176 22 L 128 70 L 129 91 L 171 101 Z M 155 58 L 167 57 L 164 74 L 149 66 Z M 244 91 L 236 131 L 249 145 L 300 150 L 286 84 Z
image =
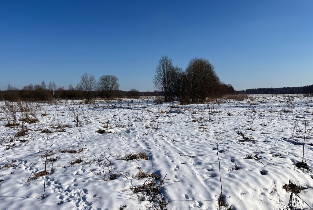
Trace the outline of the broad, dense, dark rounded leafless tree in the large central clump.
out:
M 193 58 L 186 68 L 187 93 L 193 103 L 215 94 L 220 84 L 214 66 L 206 59 Z

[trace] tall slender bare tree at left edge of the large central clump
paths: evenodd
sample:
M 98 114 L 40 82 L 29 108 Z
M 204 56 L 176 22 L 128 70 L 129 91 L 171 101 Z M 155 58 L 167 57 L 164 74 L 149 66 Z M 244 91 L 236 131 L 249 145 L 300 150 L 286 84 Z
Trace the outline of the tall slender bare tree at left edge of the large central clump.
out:
M 170 72 L 173 68 L 172 59 L 163 56 L 156 66 L 153 78 L 154 87 L 164 93 L 165 101 L 169 100 Z

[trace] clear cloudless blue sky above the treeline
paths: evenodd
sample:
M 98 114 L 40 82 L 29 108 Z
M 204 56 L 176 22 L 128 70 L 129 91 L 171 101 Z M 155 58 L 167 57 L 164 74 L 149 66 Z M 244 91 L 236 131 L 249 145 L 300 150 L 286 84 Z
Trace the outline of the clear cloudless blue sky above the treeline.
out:
M 313 84 L 313 1 L 0 0 L 0 89 L 83 73 L 154 90 L 162 55 L 208 59 L 236 90 Z

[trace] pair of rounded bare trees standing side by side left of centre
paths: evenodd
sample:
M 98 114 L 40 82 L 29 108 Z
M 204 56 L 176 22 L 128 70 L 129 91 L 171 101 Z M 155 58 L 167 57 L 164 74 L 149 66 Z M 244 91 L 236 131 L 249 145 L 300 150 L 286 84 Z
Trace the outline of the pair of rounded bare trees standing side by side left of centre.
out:
M 118 79 L 113 75 L 103 75 L 99 78 L 98 82 L 93 74 L 83 74 L 80 79 L 79 86 L 84 91 L 85 97 L 90 101 L 93 93 L 98 90 L 103 93 L 103 96 L 110 99 L 119 90 L 120 85 Z

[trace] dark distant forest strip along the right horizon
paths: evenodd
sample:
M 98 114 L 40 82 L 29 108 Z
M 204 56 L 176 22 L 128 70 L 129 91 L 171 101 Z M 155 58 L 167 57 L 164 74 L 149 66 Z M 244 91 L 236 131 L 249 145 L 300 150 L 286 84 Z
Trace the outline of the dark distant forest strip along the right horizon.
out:
M 247 89 L 246 94 L 313 94 L 313 85 L 287 88 L 254 88 Z

